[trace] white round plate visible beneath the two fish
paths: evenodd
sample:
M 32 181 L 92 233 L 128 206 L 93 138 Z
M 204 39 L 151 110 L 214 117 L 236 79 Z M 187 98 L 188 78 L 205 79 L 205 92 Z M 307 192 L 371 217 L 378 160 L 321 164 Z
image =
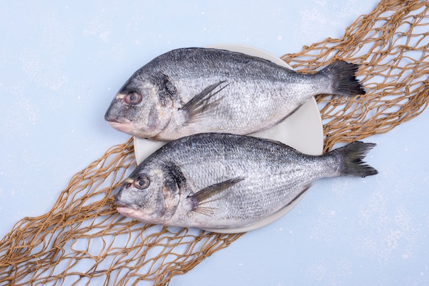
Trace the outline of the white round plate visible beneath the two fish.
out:
M 271 55 L 271 53 L 267 53 L 261 49 L 245 46 L 243 44 L 217 44 L 209 46 L 208 48 L 224 49 L 245 53 L 247 55 L 254 55 L 256 57 L 262 57 L 265 60 L 269 60 L 280 66 L 291 68 L 291 66 L 286 64 L 286 62 L 281 60 L 279 57 Z M 323 126 L 319 108 L 317 107 L 317 103 L 314 98 L 306 101 L 306 103 L 299 107 L 296 112 L 291 114 L 291 116 L 280 122 L 278 125 L 250 135 L 277 140 L 297 149 L 299 152 L 310 155 L 321 155 L 323 153 Z M 158 148 L 166 143 L 167 142 L 134 137 L 134 153 L 136 155 L 137 164 L 140 164 L 146 157 L 151 155 L 151 153 L 154 153 Z M 299 196 L 299 198 L 297 198 L 297 200 L 295 200 L 291 205 L 285 207 L 281 211 L 278 211 L 278 213 L 274 213 L 273 215 L 249 226 L 236 229 L 205 230 L 215 233 L 244 233 L 258 229 L 284 216 L 284 214 L 289 212 L 299 202 L 299 200 L 302 199 L 304 194 Z

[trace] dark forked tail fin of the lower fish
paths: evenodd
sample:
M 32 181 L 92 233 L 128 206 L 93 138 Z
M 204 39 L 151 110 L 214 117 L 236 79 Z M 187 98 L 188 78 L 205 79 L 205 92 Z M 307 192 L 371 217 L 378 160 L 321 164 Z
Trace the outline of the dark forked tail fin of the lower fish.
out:
M 377 170 L 367 165 L 363 159 L 367 153 L 376 146 L 373 143 L 355 141 L 342 148 L 332 151 L 341 157 L 341 176 L 367 177 L 378 174 Z

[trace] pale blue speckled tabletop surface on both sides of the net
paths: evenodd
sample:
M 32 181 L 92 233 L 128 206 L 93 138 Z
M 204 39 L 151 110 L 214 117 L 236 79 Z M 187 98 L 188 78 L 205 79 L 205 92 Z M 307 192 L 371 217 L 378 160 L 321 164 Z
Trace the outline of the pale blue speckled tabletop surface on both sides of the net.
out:
M 128 135 L 103 121 L 125 80 L 178 47 L 275 55 L 338 38 L 378 1 L 10 2 L 0 10 L 0 236 L 51 209 Z M 277 222 L 171 285 L 429 285 L 428 111 L 372 136 L 380 174 L 325 179 Z

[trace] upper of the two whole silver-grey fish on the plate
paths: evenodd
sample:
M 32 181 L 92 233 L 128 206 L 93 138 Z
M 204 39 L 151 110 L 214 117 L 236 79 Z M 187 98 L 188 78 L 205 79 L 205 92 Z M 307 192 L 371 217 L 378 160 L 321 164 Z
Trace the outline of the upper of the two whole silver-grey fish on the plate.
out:
M 233 51 L 175 49 L 136 70 L 104 119 L 118 131 L 152 140 L 247 135 L 282 122 L 317 94 L 365 94 L 357 70 L 357 64 L 338 60 L 302 74 Z

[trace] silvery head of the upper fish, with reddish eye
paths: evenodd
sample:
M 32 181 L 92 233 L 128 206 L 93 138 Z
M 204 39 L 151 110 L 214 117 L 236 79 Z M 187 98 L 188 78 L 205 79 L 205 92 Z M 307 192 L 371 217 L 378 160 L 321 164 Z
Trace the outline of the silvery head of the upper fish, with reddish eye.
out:
M 118 131 L 138 138 L 154 138 L 169 124 L 173 101 L 159 81 L 137 71 L 114 96 L 104 116 Z

